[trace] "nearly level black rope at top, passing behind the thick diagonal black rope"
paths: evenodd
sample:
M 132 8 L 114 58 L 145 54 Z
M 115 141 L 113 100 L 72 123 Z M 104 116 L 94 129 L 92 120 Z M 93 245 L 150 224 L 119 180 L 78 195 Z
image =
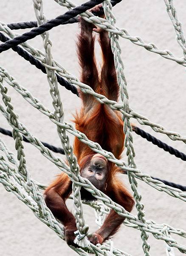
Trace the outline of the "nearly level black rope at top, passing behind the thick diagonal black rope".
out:
M 121 0 L 110 1 L 112 6 L 115 6 L 117 3 L 120 3 L 120 2 L 121 2 Z M 100 11 L 99 12 L 93 12 L 93 15 L 98 16 L 98 15 L 101 15 L 103 13 L 104 13 L 103 7 L 101 7 Z M 47 22 L 48 21 L 49 20 L 47 20 Z M 62 25 L 69 24 L 69 23 L 72 24 L 72 23 L 76 23 L 78 21 L 79 21 L 79 17 L 75 17 L 75 18 L 71 18 L 70 20 L 64 22 Z M 37 27 L 37 21 L 25 21 L 25 22 L 19 22 L 19 23 L 10 23 L 10 24 L 7 24 L 7 26 L 10 29 L 31 29 L 31 28 Z

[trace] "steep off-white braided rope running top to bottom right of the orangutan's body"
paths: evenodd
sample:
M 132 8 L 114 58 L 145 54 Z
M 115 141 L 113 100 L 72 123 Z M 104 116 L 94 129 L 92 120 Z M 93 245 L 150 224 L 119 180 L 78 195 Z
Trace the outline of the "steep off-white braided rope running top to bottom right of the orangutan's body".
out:
M 109 0 L 104 1 L 103 6 L 104 6 L 104 13 L 108 22 L 112 26 L 115 26 L 116 18 L 112 13 L 112 5 L 110 1 Z M 118 35 L 113 34 L 112 32 L 109 32 L 109 37 L 110 37 L 111 48 L 114 55 L 114 63 L 116 67 L 117 80 L 118 80 L 118 85 L 120 87 L 120 96 L 123 102 L 123 108 L 126 113 L 129 113 L 130 109 L 129 109 L 129 96 L 127 93 L 127 81 L 124 76 L 124 64 L 121 59 L 121 47 L 119 46 L 119 43 L 118 43 Z M 126 154 L 128 159 L 128 166 L 130 166 L 131 168 L 136 168 L 135 160 L 134 160 L 135 152 L 132 144 L 133 139 L 132 139 L 132 127 L 130 124 L 130 117 L 125 116 L 123 114 L 122 119 L 124 121 L 124 128 L 123 128 L 124 134 L 125 134 L 124 145 L 127 148 Z M 128 177 L 129 177 L 129 182 L 131 184 L 133 195 L 136 201 L 136 209 L 138 210 L 138 219 L 143 224 L 145 224 L 146 219 L 145 219 L 144 205 L 141 203 L 142 196 L 139 194 L 137 189 L 137 185 L 138 185 L 137 180 L 132 175 L 131 172 L 128 172 Z M 146 256 L 150 256 L 149 254 L 150 245 L 147 241 L 148 235 L 147 235 L 147 232 L 144 231 L 143 229 L 141 229 L 141 238 L 143 240 L 142 247 L 143 247 L 144 253 Z

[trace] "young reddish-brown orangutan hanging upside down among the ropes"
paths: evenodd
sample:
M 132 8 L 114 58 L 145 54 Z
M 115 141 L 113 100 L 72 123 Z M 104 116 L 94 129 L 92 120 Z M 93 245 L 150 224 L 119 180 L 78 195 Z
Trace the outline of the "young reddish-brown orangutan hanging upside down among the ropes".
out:
M 99 9 L 99 7 L 96 6 L 94 10 Z M 81 81 L 89 85 L 96 93 L 100 93 L 110 100 L 118 101 L 119 88 L 108 32 L 96 28 L 96 26 L 87 23 L 82 18 L 80 24 L 81 32 L 78 36 L 77 53 L 82 68 Z M 94 56 L 95 37 L 93 31 L 99 33 L 99 44 L 102 50 L 103 65 L 100 76 L 98 76 Z M 75 116 L 76 129 L 86 134 L 89 140 L 99 143 L 102 148 L 112 152 L 117 159 L 120 159 L 124 149 L 121 114 L 111 110 L 107 105 L 102 105 L 93 96 L 84 94 L 81 90 L 79 93 L 82 99 L 82 108 Z M 97 189 L 130 212 L 134 201 L 116 177 L 120 169 L 114 163 L 107 161 L 101 154 L 96 154 L 76 137 L 74 154 L 80 166 L 81 176 L 90 180 Z M 72 182 L 68 175 L 62 173 L 45 190 L 45 202 L 54 216 L 65 226 L 67 243 L 77 246 L 73 243 L 75 239 L 74 231 L 77 230 L 76 221 L 65 204 L 71 192 Z M 90 192 L 83 188 L 81 189 L 81 198 L 86 201 L 95 200 Z M 111 209 L 102 227 L 93 233 L 90 238 L 91 243 L 101 244 L 109 239 L 117 232 L 123 221 L 124 218 Z

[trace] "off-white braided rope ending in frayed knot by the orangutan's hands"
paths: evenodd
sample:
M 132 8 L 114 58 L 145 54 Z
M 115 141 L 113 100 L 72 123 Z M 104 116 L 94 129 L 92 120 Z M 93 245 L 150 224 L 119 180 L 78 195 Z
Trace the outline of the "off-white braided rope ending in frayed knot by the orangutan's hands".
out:
M 47 22 L 47 18 L 43 12 L 43 2 L 42 0 L 33 0 L 34 3 L 34 11 L 38 21 L 38 25 Z M 49 32 L 45 32 L 42 35 L 43 45 L 45 48 L 45 63 L 48 65 L 52 65 L 52 55 L 51 55 L 51 41 L 49 39 Z M 47 71 L 47 79 L 48 84 L 50 86 L 50 93 L 52 97 L 52 104 L 54 106 L 54 118 L 57 122 L 64 123 L 64 112 L 62 107 L 62 102 L 60 98 L 60 93 L 58 89 L 57 77 L 55 70 L 52 70 L 46 67 Z M 68 160 L 70 166 L 70 172 L 75 173 L 75 175 L 79 175 L 79 166 L 77 163 L 76 156 L 73 154 L 73 147 L 70 145 L 69 137 L 66 134 L 66 130 L 57 125 L 57 131 L 59 138 L 62 143 L 62 147 L 65 151 L 65 156 Z M 88 247 L 90 245 L 90 241 L 87 239 L 86 235 L 88 233 L 88 226 L 85 224 L 85 218 L 83 215 L 83 206 L 80 195 L 81 186 L 77 185 L 73 182 L 72 184 L 72 194 L 73 194 L 73 206 L 75 209 L 74 216 L 76 218 L 76 226 L 78 232 L 76 233 L 76 239 L 74 243 L 78 244 L 81 247 Z

